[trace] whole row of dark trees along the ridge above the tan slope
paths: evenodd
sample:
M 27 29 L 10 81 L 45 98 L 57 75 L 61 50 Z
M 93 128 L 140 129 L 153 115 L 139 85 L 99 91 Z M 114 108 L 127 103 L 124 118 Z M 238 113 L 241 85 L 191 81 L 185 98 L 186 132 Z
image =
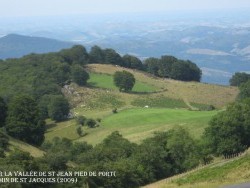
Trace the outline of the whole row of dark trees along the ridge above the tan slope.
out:
M 126 68 L 146 71 L 162 78 L 182 81 L 200 81 L 202 72 L 193 62 L 180 60 L 173 56 L 149 57 L 143 62 L 133 55 L 120 56 L 113 49 L 93 46 L 89 52 L 89 63 L 115 64 Z

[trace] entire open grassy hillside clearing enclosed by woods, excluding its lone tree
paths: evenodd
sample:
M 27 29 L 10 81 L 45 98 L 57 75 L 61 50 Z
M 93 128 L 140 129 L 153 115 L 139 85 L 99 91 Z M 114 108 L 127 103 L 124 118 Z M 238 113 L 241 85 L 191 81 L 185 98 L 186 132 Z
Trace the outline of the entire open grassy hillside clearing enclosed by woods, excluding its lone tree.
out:
M 91 64 L 87 70 L 90 73 L 87 87 L 71 84 L 63 92 L 76 116 L 101 118 L 100 126 L 84 127 L 87 135 L 79 138 L 75 120 L 57 123 L 48 127 L 47 140 L 59 136 L 96 144 L 118 130 L 125 138 L 140 142 L 155 131 L 176 125 L 187 127 L 198 138 L 218 111 L 197 110 L 209 105 L 222 108 L 234 101 L 238 93 L 235 87 L 160 79 L 119 66 Z M 113 84 L 112 74 L 121 70 L 130 71 L 136 78 L 137 85 L 131 93 L 119 92 Z M 114 108 L 118 109 L 117 114 L 112 113 Z

